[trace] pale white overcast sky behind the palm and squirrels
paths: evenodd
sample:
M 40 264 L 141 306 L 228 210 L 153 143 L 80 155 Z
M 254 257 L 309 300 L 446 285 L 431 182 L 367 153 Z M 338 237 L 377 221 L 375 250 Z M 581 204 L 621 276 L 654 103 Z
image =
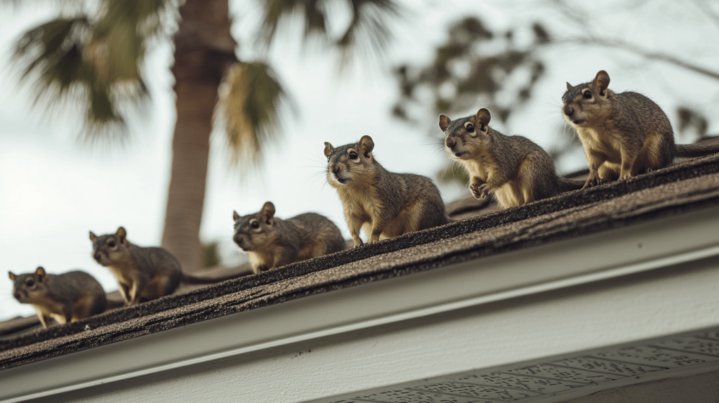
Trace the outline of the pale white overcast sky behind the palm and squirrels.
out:
M 40 2 L 37 2 L 40 3 Z M 209 170 L 201 238 L 219 241 L 226 256 L 239 254 L 232 244 L 232 210 L 253 213 L 273 201 L 280 218 L 315 211 L 331 218 L 349 237 L 342 205 L 324 179 L 324 142 L 347 144 L 369 134 L 375 156 L 388 170 L 433 177 L 444 162 L 434 145 L 441 138 L 436 116 L 419 124 L 393 119 L 390 109 L 398 98 L 391 71 L 403 62 L 428 62 L 434 48 L 446 39 L 449 22 L 480 15 L 492 29 L 519 27 L 541 19 L 553 33 L 571 34 L 581 27 L 541 1 L 454 0 L 403 1 L 411 10 L 406 21 L 393 27 L 395 42 L 385 61 L 353 66 L 338 74 L 336 57 L 296 45 L 290 35 L 275 44 L 270 62 L 299 114 L 285 116 L 283 139 L 268 148 L 262 171 L 241 178 L 228 169 L 221 142 L 215 137 Z M 52 18 L 51 10 L 28 6 L 0 6 L 0 258 L 5 271 L 32 272 L 39 265 L 47 272 L 84 269 L 106 291 L 117 288 L 109 271 L 91 258 L 88 231 L 114 232 L 124 226 L 135 244 L 160 243 L 170 171 L 170 142 L 174 104 L 168 71 L 171 50 L 162 46 L 150 55 L 152 109 L 137 125 L 125 147 L 88 147 L 76 141 L 77 126 L 63 116 L 47 119 L 47 111 L 32 108 L 28 85 L 17 84 L 17 69 L 9 62 L 12 45 L 24 29 Z M 237 1 L 233 9 L 239 54 L 252 57 L 246 27 L 256 24 L 252 1 Z M 719 23 L 698 11 L 694 3 L 642 2 L 626 9 L 615 1 L 616 11 L 602 15 L 597 27 L 614 37 L 649 49 L 667 52 L 699 65 L 719 65 Z M 605 9 L 611 9 L 603 3 Z M 589 10 L 591 11 L 591 10 Z M 481 14 L 480 14 L 481 13 Z M 288 40 L 290 38 L 290 40 Z M 693 106 L 712 116 L 719 103 L 719 80 L 711 80 L 672 65 L 646 62 L 630 53 L 598 47 L 564 45 L 544 54 L 547 73 L 526 108 L 516 111 L 506 126 L 493 124 L 505 134 L 523 134 L 551 149 L 561 117 L 560 98 L 565 81 L 591 80 L 607 70 L 614 91 L 639 91 L 654 99 L 670 119 L 677 105 Z M 481 105 L 477 105 L 477 108 Z M 464 116 L 475 113 L 466 111 Z M 454 116 L 452 116 L 454 117 Z M 66 118 L 66 117 L 65 117 Z M 710 133 L 719 132 L 719 119 L 710 121 Z M 429 136 L 434 135 L 434 137 Z M 584 167 L 581 154 L 563 160 L 564 171 Z M 467 197 L 461 187 L 441 187 L 444 199 Z M 12 298 L 12 282 L 0 280 L 0 320 L 33 315 L 29 305 Z

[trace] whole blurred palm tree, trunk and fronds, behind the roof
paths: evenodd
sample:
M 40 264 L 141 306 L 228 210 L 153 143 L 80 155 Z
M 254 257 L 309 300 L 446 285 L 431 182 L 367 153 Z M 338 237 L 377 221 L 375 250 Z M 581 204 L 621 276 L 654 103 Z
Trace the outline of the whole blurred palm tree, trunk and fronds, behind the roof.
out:
M 16 3 L 19 3 L 16 1 Z M 269 47 L 278 27 L 304 21 L 304 40 L 319 37 L 346 62 L 353 52 L 379 53 L 388 41 L 393 0 L 264 0 L 260 29 Z M 329 29 L 330 6 L 344 4 L 350 22 L 339 37 Z M 228 0 L 58 1 L 63 15 L 29 29 L 16 59 L 39 101 L 70 99 L 86 108 L 88 138 L 121 134 L 133 108 L 148 98 L 142 62 L 163 36 L 173 37 L 175 106 L 173 162 L 162 246 L 186 270 L 201 266 L 199 230 L 209 162 L 209 137 L 221 125 L 234 161 L 247 168 L 278 133 L 278 110 L 289 99 L 270 65 L 237 59 Z M 175 23 L 179 23 L 175 26 Z M 220 90 L 220 91 L 219 91 Z

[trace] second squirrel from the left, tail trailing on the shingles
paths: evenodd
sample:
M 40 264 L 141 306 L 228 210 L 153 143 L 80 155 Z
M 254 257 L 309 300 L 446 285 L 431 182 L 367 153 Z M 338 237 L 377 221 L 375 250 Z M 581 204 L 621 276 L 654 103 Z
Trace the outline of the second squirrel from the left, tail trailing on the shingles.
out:
M 170 295 L 180 282 L 211 284 L 235 277 L 203 279 L 183 273 L 180 261 L 173 254 L 162 248 L 131 244 L 123 227 L 102 236 L 90 231 L 90 241 L 93 243 L 93 258 L 114 274 L 125 305 L 137 305 L 142 300 Z

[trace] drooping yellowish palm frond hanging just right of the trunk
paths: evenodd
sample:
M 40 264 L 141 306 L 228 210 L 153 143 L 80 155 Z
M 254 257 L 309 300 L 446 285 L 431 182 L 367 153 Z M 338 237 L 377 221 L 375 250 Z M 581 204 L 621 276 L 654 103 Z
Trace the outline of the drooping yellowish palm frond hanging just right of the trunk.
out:
M 293 108 L 274 71 L 264 62 L 238 62 L 220 85 L 215 124 L 224 126 L 232 162 L 253 167 L 260 149 L 278 136 L 280 110 Z

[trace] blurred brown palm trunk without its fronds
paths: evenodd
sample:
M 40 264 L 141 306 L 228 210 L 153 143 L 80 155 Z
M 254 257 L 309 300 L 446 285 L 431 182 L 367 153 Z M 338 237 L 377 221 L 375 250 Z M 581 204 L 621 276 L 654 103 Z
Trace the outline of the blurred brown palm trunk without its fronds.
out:
M 229 33 L 227 0 L 187 0 L 180 17 L 172 68 L 177 121 L 162 247 L 193 272 L 201 268 L 200 224 L 217 88 L 226 68 L 237 62 L 237 44 Z

